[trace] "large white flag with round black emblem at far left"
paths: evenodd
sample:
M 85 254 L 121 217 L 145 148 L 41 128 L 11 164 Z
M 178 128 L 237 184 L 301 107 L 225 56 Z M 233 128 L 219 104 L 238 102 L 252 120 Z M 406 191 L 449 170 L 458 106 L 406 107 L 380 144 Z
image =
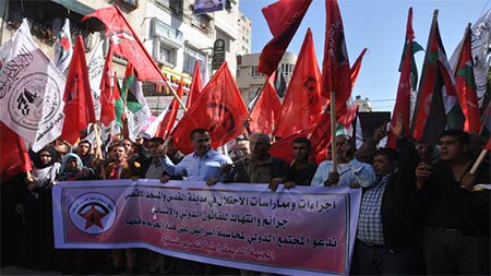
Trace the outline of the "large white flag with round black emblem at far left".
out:
M 53 141 L 63 124 L 65 79 L 31 37 L 27 21 L 15 32 L 0 71 L 0 119 L 35 149 Z M 60 128 L 60 132 L 52 131 Z

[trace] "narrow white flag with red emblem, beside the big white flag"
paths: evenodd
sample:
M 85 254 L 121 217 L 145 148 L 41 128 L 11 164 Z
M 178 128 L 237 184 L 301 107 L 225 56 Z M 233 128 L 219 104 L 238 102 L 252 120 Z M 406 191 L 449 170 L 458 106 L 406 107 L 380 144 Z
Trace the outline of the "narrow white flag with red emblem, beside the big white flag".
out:
M 70 36 L 70 21 L 64 20 L 64 25 L 58 34 L 55 43 L 55 64 L 63 74 L 67 73 L 68 67 L 72 61 L 73 48 L 72 37 Z

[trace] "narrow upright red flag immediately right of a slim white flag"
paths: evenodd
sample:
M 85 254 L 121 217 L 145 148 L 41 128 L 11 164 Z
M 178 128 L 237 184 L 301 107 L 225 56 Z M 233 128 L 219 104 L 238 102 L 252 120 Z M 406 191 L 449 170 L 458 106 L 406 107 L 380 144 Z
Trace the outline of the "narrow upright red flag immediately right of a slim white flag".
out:
M 112 76 L 112 44 L 110 44 L 106 63 L 104 64 L 103 80 L 100 82 L 100 122 L 106 127 L 116 120 L 115 86 L 117 80 L 116 72 Z

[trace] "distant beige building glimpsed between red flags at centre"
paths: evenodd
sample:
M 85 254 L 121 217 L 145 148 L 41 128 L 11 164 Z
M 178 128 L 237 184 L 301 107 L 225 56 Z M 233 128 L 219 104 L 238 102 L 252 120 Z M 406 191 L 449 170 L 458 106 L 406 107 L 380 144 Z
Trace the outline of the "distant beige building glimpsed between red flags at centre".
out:
M 237 57 L 237 85 L 247 105 L 251 103 L 259 89 L 263 87 L 265 76 L 259 72 L 260 53 L 250 53 Z M 288 84 L 294 73 L 297 56 L 292 52 L 285 52 L 278 65 L 278 71 L 285 76 Z

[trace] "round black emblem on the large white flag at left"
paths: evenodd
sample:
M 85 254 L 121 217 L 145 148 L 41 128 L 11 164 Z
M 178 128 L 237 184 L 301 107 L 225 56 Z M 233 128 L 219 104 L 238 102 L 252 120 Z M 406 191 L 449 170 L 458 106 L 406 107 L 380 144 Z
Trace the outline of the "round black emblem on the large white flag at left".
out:
M 12 121 L 22 128 L 37 130 L 41 120 L 49 121 L 61 106 L 58 82 L 45 73 L 23 76 L 12 88 L 9 113 Z M 48 110 L 43 118 L 43 107 Z

